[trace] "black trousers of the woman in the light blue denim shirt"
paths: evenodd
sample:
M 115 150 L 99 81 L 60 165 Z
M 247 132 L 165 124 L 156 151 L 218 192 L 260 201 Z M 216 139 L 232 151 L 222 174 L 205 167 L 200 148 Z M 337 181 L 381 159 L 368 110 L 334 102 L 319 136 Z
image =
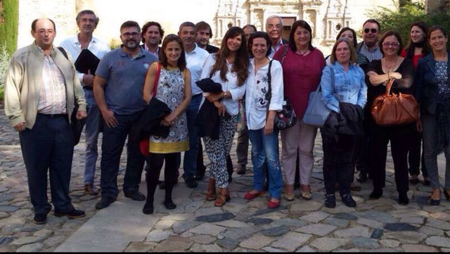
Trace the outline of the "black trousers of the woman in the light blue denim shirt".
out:
M 357 136 L 338 134 L 338 140 L 324 134 L 321 129 L 323 144 L 323 181 L 327 195 L 335 193 L 336 182 L 339 183 L 340 196 L 350 193 L 353 181 L 354 151 Z

